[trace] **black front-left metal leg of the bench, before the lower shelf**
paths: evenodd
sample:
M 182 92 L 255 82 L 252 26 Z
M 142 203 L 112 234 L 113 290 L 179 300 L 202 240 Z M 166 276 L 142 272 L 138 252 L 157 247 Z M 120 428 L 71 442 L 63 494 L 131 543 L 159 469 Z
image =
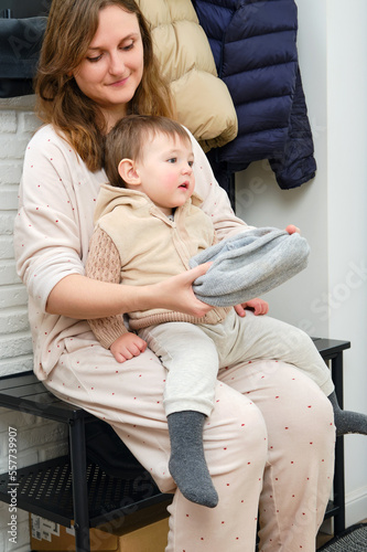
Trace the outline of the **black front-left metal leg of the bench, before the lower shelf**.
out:
M 69 425 L 69 439 L 73 478 L 75 550 L 76 552 L 90 552 L 84 420 L 76 420 Z

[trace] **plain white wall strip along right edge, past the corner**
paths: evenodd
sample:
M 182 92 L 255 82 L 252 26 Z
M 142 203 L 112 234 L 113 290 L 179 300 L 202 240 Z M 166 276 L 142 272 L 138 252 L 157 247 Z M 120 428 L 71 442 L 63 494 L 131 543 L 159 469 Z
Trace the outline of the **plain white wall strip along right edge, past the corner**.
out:
M 352 341 L 345 405 L 367 413 L 367 3 L 327 2 L 330 333 Z M 347 436 L 347 522 L 367 517 L 367 437 Z

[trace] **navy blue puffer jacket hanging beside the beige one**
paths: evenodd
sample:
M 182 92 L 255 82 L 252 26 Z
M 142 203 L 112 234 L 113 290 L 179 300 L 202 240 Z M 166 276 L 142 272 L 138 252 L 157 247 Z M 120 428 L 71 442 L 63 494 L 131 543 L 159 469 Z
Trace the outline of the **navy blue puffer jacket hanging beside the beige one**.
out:
M 316 163 L 294 0 L 193 0 L 193 6 L 238 117 L 237 138 L 208 156 L 219 183 L 260 159 L 269 159 L 282 189 L 312 179 Z

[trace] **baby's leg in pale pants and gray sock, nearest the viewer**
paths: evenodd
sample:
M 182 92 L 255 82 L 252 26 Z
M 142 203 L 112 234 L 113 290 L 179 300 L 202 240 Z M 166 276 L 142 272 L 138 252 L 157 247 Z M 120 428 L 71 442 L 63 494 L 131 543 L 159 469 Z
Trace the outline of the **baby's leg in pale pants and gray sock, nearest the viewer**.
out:
M 218 495 L 204 457 L 203 426 L 214 405 L 216 348 L 197 326 L 186 322 L 150 327 L 140 336 L 168 370 L 163 403 L 171 475 L 186 499 L 214 508 Z

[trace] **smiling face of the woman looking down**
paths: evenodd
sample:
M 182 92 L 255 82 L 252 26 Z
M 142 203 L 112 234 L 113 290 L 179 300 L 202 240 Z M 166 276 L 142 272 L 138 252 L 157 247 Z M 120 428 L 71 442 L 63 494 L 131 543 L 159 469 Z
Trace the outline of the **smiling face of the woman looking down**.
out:
M 99 12 L 86 57 L 73 73 L 80 91 L 102 110 L 108 126 L 126 114 L 143 73 L 138 18 L 119 6 Z

